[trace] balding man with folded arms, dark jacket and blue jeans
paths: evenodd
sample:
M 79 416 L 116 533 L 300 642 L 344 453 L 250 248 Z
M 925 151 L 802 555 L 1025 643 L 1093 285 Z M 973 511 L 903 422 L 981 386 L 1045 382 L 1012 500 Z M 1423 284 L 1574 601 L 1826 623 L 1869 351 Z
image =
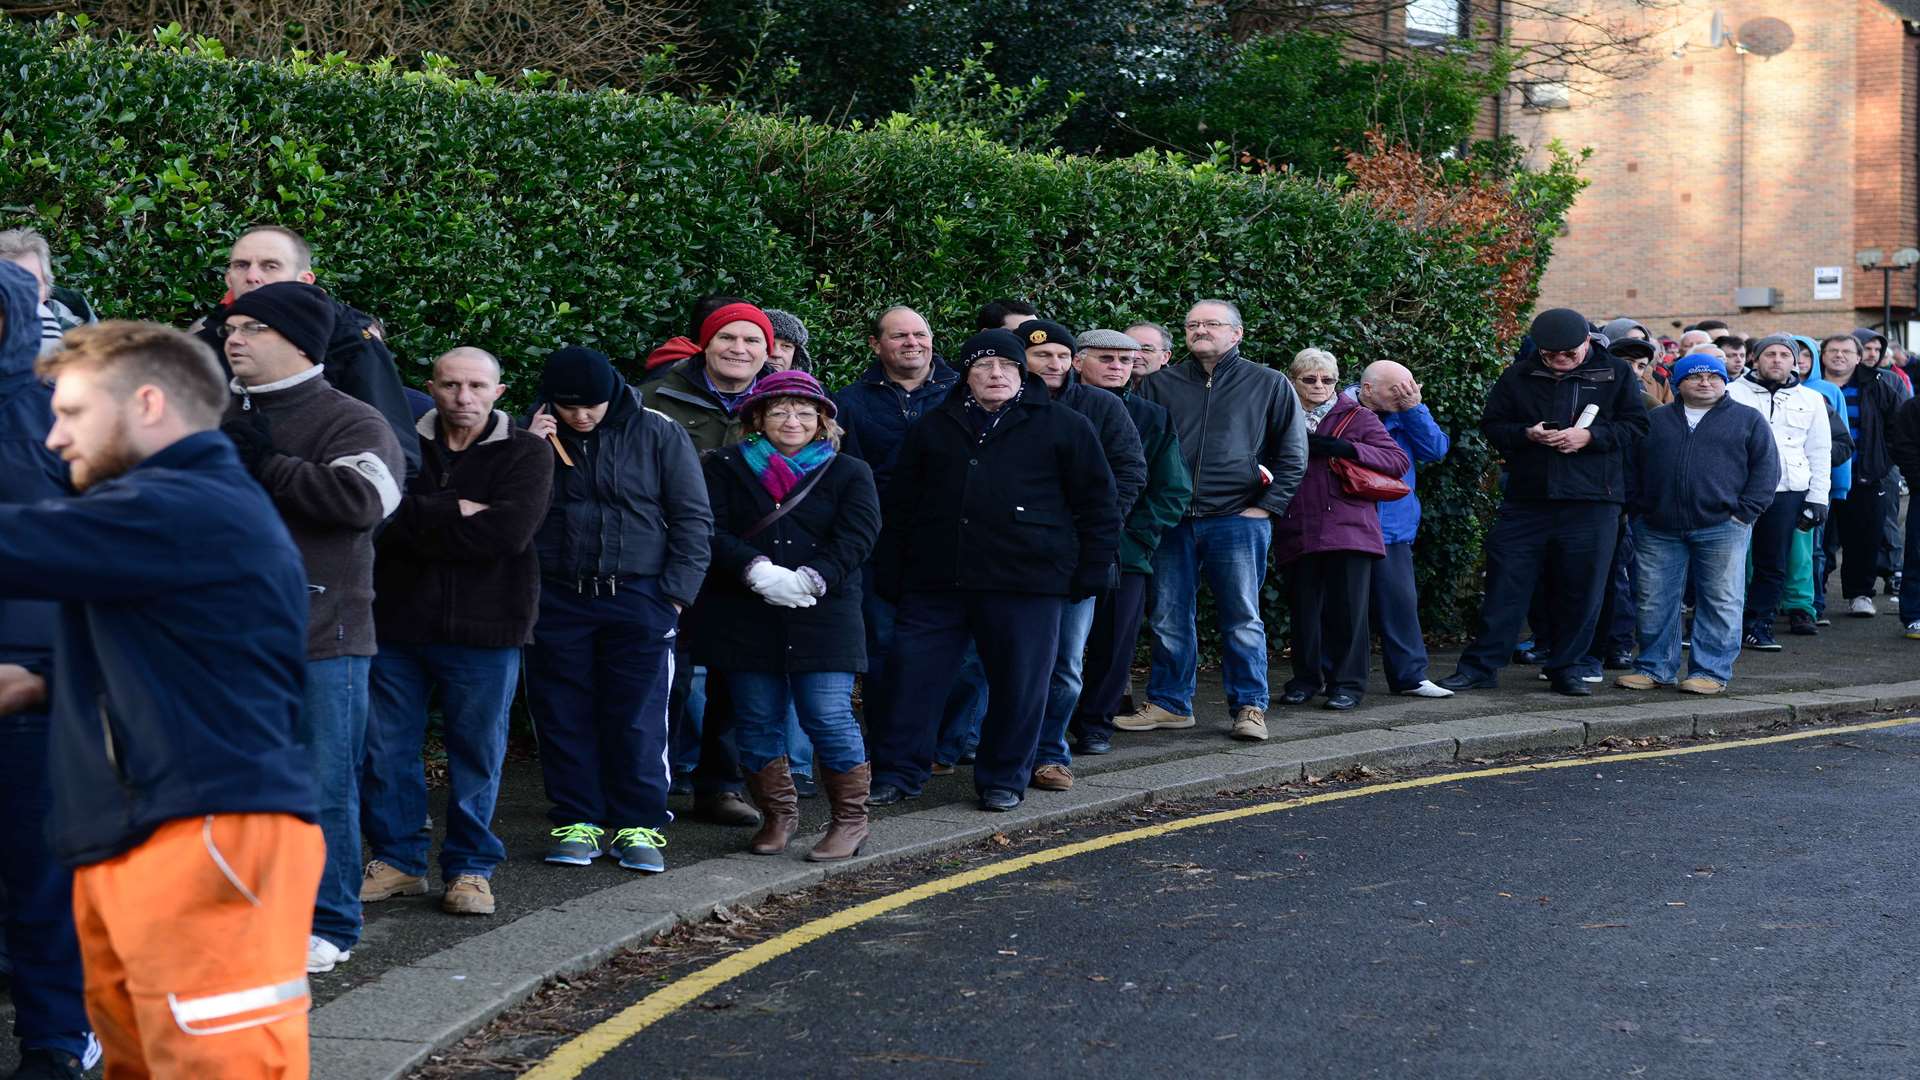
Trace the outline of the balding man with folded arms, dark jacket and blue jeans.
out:
M 499 361 L 457 348 L 434 361 L 434 409 L 419 421 L 420 473 L 407 484 L 374 557 L 374 630 L 361 815 L 372 861 L 361 903 L 426 892 L 426 776 L 420 744 L 440 690 L 447 748 L 447 838 L 440 847 L 449 915 L 493 915 L 493 834 L 507 711 L 520 646 L 540 607 L 534 532 L 547 517 L 553 450 L 495 402 Z

